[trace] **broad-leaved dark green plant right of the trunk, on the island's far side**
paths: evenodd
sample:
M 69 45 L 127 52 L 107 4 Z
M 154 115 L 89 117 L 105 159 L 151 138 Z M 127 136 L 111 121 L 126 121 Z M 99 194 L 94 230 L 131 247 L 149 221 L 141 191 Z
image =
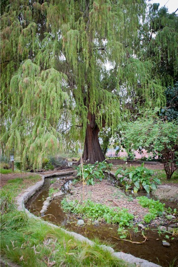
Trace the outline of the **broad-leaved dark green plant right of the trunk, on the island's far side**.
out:
M 134 186 L 134 192 L 137 192 L 138 190 L 142 191 L 143 188 L 147 193 L 149 193 L 150 190 L 155 190 L 157 188 L 156 184 L 160 184 L 160 180 L 156 177 L 152 177 L 154 175 L 154 171 L 145 168 L 143 165 L 144 163 L 133 171 L 119 168 L 115 173 L 116 179 L 119 179 L 120 182 L 125 185 L 126 190 L 128 190 L 131 186 Z M 118 178 L 118 174 L 121 174 L 122 177 Z M 124 178 L 127 179 L 124 180 Z

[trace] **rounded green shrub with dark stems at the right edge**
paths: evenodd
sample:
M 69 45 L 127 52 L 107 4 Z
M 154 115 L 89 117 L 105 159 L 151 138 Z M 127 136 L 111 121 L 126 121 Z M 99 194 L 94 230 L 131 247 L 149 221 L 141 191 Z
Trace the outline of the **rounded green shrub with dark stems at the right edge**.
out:
M 164 121 L 153 115 L 134 122 L 120 123 L 118 132 L 122 134 L 120 142 L 129 149 L 139 147 L 154 152 L 164 164 L 167 179 L 178 168 L 178 124 L 176 121 Z

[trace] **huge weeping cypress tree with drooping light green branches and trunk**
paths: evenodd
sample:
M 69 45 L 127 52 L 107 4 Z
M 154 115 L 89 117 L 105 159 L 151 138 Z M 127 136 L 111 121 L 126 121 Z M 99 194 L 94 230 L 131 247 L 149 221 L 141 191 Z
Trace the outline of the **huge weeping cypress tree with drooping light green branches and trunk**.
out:
M 1 141 L 24 164 L 40 166 L 64 135 L 85 140 L 83 160 L 103 161 L 102 127 L 129 116 L 130 100 L 165 101 L 152 61 L 137 57 L 144 0 L 1 3 Z

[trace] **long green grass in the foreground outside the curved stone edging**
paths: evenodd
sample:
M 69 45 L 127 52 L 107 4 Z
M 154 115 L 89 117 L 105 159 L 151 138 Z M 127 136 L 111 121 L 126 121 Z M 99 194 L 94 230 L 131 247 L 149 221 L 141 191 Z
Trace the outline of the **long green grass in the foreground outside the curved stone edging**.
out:
M 21 266 L 127 266 L 97 244 L 75 240 L 61 228 L 29 218 L 15 197 L 40 176 L 9 180 L 1 190 L 1 255 Z

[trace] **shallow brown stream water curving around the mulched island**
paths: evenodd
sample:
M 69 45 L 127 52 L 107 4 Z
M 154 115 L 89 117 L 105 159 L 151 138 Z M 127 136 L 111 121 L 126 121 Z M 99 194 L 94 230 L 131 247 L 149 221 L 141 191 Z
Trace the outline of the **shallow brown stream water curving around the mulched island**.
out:
M 40 216 L 40 210 L 42 209 L 43 202 L 48 197 L 51 181 L 61 178 L 62 177 L 45 178 L 44 186 L 28 200 L 28 202 L 26 203 L 26 208 L 30 210 L 30 212 L 34 215 Z M 131 192 L 126 193 L 134 196 Z M 56 225 L 61 225 L 63 227 L 65 226 L 65 228 L 69 231 L 80 233 L 83 236 L 88 237 L 89 239 L 97 237 L 101 241 L 107 241 L 109 244 L 111 244 L 111 246 L 113 246 L 115 251 L 130 253 L 136 257 L 147 259 L 163 267 L 168 267 L 170 263 L 176 258 L 174 265 L 172 266 L 178 265 L 178 242 L 176 238 L 174 238 L 173 240 L 169 239 L 168 242 L 170 243 L 170 246 L 165 247 L 162 245 L 164 235 L 159 236 L 157 230 L 152 226 L 152 228 L 144 230 L 144 235 L 148 238 L 144 243 L 135 244 L 123 240 L 117 240 L 116 238 L 119 238 L 119 235 L 117 233 L 117 224 L 100 223 L 99 226 L 94 226 L 93 224 L 78 226 L 77 221 L 79 218 L 76 215 L 65 213 L 61 208 L 61 200 L 62 197 L 53 199 L 50 202 L 48 211 L 45 212 L 45 216 L 42 217 L 44 220 L 53 222 Z M 174 208 L 177 205 L 176 203 L 174 205 L 174 203 L 170 202 L 166 203 L 166 206 Z M 132 241 L 144 241 L 144 238 L 140 231 L 135 233 L 132 230 L 129 230 L 129 232 L 130 239 Z

